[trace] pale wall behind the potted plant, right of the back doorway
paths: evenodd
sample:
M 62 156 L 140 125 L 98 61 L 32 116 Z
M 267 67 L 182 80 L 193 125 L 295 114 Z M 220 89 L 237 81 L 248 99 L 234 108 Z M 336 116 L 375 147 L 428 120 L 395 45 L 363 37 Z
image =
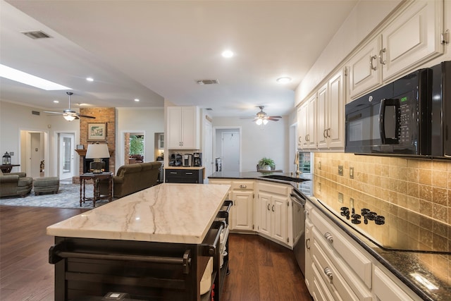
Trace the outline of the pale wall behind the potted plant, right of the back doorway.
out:
M 276 163 L 276 169 L 289 171 L 288 164 L 288 116 L 280 121 L 269 121 L 260 126 L 250 119 L 237 117 L 214 117 L 213 127 L 242 128 L 241 171 L 255 171 L 258 161 L 264 156 Z

